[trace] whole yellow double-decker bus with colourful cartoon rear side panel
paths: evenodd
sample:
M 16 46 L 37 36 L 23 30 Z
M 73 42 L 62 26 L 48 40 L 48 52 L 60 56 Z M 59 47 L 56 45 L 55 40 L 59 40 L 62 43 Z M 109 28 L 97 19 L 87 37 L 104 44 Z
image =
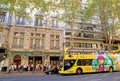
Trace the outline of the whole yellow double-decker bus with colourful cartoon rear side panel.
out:
M 84 54 L 66 49 L 60 74 L 82 74 L 89 72 L 119 71 L 120 55 L 107 52 Z

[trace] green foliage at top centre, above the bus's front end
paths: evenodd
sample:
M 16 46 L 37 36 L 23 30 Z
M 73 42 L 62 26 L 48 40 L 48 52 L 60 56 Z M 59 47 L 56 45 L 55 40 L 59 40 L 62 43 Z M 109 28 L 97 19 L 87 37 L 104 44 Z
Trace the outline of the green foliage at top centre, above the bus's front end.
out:
M 59 7 L 64 10 L 60 19 L 68 24 L 78 19 L 78 15 L 81 13 L 80 0 L 62 0 Z

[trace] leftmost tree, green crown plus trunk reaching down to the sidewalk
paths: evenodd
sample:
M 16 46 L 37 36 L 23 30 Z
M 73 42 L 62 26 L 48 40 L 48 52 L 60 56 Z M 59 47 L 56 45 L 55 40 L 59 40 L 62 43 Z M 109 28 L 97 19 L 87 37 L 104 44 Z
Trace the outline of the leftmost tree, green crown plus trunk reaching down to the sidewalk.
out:
M 9 64 L 8 66 L 10 66 L 11 64 L 11 52 L 10 52 L 10 45 L 9 45 L 9 37 L 10 37 L 10 33 L 11 32 L 11 28 L 16 27 L 16 16 L 17 15 L 21 15 L 22 17 L 26 17 L 27 13 L 26 13 L 26 9 L 29 8 L 29 4 L 27 2 L 27 0 L 0 0 L 0 14 L 3 12 L 8 12 L 9 15 L 13 16 L 12 22 L 13 24 L 11 25 L 11 27 L 7 27 L 4 25 L 2 27 L 4 27 L 6 30 L 5 35 L 6 35 L 6 39 L 5 39 L 5 43 L 6 43 L 6 48 L 7 48 L 7 53 L 8 53 L 8 59 L 9 59 Z M 9 70 L 9 68 L 8 68 Z

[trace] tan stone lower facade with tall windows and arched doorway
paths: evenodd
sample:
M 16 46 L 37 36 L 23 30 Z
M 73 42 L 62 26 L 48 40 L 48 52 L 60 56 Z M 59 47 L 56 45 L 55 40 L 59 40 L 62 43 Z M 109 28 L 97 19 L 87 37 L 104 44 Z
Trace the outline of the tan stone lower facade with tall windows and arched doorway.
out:
M 63 53 L 63 30 L 29 26 L 11 27 L 4 66 L 15 63 L 55 63 Z

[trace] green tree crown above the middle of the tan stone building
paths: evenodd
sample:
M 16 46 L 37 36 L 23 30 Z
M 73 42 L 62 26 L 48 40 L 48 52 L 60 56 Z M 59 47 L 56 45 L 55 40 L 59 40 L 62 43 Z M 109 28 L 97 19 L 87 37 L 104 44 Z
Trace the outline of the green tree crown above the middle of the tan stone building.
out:
M 57 8 L 56 1 L 54 0 L 29 0 L 31 2 L 31 10 L 37 9 L 39 14 L 36 14 L 37 17 L 42 17 L 44 19 L 45 27 L 48 27 L 51 12 L 55 11 Z

